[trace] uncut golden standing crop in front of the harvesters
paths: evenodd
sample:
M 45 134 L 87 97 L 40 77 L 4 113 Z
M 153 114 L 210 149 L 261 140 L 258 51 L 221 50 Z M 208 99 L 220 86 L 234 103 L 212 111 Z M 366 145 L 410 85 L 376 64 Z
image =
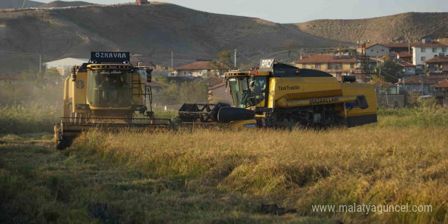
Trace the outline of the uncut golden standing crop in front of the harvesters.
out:
M 89 133 L 72 148 L 185 191 L 241 197 L 347 223 L 444 223 L 447 129 Z M 311 205 L 432 205 L 431 213 L 314 213 Z

